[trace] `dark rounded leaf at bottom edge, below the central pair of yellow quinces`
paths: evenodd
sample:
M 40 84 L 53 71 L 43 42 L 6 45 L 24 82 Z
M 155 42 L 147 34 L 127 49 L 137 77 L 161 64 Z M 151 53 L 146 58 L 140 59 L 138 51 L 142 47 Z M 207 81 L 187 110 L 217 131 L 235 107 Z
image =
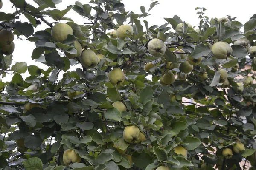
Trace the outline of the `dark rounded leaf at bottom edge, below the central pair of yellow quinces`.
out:
M 148 155 L 148 153 L 142 152 L 142 153 L 138 153 L 135 152 L 132 154 L 132 161 L 133 163 L 139 167 L 140 169 L 146 169 L 146 167 L 151 164 L 152 161 L 152 157 L 150 155 Z

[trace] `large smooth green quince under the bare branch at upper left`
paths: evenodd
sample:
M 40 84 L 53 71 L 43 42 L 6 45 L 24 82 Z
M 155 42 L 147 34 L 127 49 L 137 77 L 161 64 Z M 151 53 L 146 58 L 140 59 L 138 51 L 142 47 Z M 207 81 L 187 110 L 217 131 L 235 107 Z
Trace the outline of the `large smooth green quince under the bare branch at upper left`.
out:
M 73 29 L 65 23 L 57 23 L 52 27 L 51 34 L 53 41 L 64 42 L 67 40 L 67 35 L 73 35 Z

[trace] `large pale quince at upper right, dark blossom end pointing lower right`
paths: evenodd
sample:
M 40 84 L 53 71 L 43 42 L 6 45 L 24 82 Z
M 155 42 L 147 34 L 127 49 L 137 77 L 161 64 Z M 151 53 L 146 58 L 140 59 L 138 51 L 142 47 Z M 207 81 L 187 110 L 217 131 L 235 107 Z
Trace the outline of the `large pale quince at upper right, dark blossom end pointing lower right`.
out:
M 216 59 L 227 59 L 233 50 L 227 42 L 219 41 L 212 45 L 212 55 Z

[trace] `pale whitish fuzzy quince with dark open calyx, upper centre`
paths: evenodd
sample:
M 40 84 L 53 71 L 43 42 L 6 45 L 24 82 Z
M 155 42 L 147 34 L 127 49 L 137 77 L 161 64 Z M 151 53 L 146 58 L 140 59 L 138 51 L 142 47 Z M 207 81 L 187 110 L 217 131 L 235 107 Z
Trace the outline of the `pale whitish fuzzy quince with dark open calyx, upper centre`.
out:
M 148 51 L 154 57 L 162 57 L 166 51 L 166 45 L 162 40 L 154 38 L 148 42 Z

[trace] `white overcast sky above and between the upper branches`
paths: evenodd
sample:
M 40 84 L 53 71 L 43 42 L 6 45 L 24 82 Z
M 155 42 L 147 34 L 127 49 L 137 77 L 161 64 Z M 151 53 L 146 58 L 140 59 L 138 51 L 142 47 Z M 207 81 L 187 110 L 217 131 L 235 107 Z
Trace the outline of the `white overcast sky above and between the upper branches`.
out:
M 82 4 L 86 4 L 89 0 L 78 0 Z M 31 5 L 37 7 L 37 5 L 33 2 L 33 0 L 26 0 L 26 2 L 31 3 Z M 63 10 L 67 8 L 69 5 L 74 5 L 76 0 L 62 0 L 62 3 L 57 5 L 59 10 Z M 146 11 L 149 9 L 149 5 L 154 2 L 152 0 L 122 0 L 122 3 L 125 4 L 125 9 L 128 11 L 134 11 L 137 14 L 141 14 L 140 6 L 144 6 Z M 147 20 L 149 26 L 152 25 L 162 25 L 166 23 L 163 19 L 172 18 L 175 14 L 178 15 L 183 21 L 186 21 L 192 26 L 198 26 L 200 19 L 198 19 L 198 15 L 195 11 L 196 7 L 204 7 L 207 9 L 205 15 L 209 18 L 211 17 L 226 17 L 226 15 L 231 15 L 231 17 L 237 17 L 236 20 L 240 21 L 242 24 L 246 23 L 253 14 L 255 14 L 255 6 L 256 1 L 250 0 L 247 3 L 235 3 L 234 1 L 228 0 L 215 0 L 215 1 L 208 1 L 208 0 L 183 0 L 178 3 L 178 1 L 172 0 L 158 0 L 158 5 L 156 5 L 150 12 L 151 14 L 148 17 L 142 19 L 141 23 L 144 26 L 143 20 Z M 92 5 L 93 6 L 93 5 Z M 12 3 L 9 0 L 3 0 L 3 8 L 0 10 L 1 12 L 5 13 L 12 13 L 15 11 L 15 8 L 11 8 Z M 198 10 L 199 11 L 199 10 Z M 78 24 L 87 23 L 87 20 L 80 17 L 72 9 L 64 16 L 70 17 L 74 20 L 74 22 Z M 54 22 L 51 18 L 46 18 L 49 22 Z M 28 22 L 28 20 L 21 15 L 20 16 L 21 22 Z M 66 21 L 63 21 L 66 22 Z M 41 25 L 38 25 L 37 28 L 34 28 L 35 31 L 44 30 L 48 26 L 42 22 Z M 13 55 L 13 62 L 27 62 L 28 65 L 37 65 L 39 68 L 43 68 L 44 70 L 47 69 L 47 66 L 41 63 L 37 63 L 32 60 L 31 55 L 32 51 L 35 48 L 34 42 L 29 42 L 26 40 L 25 36 L 21 36 L 23 40 L 15 38 L 15 51 Z M 79 67 L 79 65 L 77 65 Z M 73 68 L 70 68 L 72 71 Z M 25 73 L 22 74 L 23 78 L 29 76 L 29 74 Z M 3 78 L 2 81 L 10 81 L 12 79 L 11 75 L 7 75 Z

